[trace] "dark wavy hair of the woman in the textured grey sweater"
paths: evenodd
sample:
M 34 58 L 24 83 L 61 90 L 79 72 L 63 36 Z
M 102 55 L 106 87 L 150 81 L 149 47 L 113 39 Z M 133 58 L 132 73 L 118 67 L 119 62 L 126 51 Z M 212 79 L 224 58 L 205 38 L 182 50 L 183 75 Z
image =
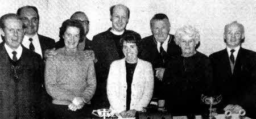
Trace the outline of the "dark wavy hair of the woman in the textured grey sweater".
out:
M 82 24 L 80 22 L 78 22 L 77 20 L 72 20 L 72 19 L 67 19 L 62 23 L 62 25 L 60 27 L 60 33 L 59 33 L 60 41 L 64 41 L 63 35 L 68 27 L 77 27 L 80 29 L 79 42 L 82 42 L 82 40 L 84 39 L 84 27 L 82 27 Z

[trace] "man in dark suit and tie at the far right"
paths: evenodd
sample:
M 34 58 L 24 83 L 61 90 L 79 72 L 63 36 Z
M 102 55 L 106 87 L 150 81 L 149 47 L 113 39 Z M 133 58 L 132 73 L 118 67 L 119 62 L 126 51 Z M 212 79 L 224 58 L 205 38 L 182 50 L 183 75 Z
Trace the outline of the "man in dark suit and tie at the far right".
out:
M 236 21 L 225 25 L 226 48 L 209 56 L 213 67 L 214 84 L 222 101 L 217 105 L 220 113 L 228 104 L 238 104 L 246 115 L 255 118 L 256 54 L 241 47 L 245 40 L 244 27 Z M 253 115 L 254 114 L 254 115 Z M 254 117 L 253 117 L 254 116 Z

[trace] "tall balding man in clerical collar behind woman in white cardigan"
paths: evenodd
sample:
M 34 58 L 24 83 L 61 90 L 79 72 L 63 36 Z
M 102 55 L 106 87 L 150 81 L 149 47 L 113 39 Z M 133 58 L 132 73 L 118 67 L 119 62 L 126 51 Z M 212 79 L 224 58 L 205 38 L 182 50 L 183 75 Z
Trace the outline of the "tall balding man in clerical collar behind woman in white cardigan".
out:
M 94 109 L 109 108 L 110 106 L 106 94 L 106 81 L 110 64 L 114 60 L 124 57 L 119 40 L 124 34 L 134 32 L 125 29 L 129 17 L 130 10 L 126 6 L 114 5 L 110 7 L 112 28 L 93 37 L 92 49 L 98 59 L 98 62 L 95 64 L 97 88 L 92 99 Z M 134 33 L 137 39 L 141 39 L 138 33 Z

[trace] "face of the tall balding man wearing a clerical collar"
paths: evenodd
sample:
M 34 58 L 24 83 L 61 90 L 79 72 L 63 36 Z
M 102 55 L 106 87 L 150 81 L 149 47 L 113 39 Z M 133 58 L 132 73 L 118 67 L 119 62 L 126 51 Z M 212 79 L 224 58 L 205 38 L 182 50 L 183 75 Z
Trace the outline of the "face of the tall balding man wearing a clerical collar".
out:
M 112 29 L 114 31 L 121 32 L 125 29 L 128 23 L 128 11 L 124 6 L 115 6 L 113 10 L 112 18 Z

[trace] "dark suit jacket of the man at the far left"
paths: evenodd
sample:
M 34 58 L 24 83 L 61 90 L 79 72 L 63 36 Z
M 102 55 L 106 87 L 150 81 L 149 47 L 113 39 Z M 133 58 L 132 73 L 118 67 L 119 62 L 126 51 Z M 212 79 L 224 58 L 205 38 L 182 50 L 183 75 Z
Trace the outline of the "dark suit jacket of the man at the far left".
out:
M 22 48 L 14 70 L 4 43 L 0 44 L 0 118 L 40 117 L 42 59 L 39 54 Z

